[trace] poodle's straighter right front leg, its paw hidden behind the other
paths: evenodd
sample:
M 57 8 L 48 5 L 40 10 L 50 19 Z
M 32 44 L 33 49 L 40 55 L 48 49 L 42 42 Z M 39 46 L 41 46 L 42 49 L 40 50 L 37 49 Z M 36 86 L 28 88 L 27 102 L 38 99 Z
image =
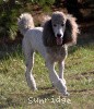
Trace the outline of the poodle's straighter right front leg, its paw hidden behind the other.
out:
M 59 78 L 61 78 L 63 81 L 63 83 L 66 84 L 66 80 L 63 77 L 64 61 L 59 61 L 58 65 L 59 65 Z

